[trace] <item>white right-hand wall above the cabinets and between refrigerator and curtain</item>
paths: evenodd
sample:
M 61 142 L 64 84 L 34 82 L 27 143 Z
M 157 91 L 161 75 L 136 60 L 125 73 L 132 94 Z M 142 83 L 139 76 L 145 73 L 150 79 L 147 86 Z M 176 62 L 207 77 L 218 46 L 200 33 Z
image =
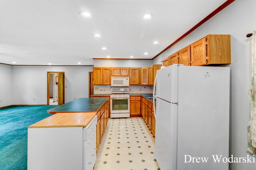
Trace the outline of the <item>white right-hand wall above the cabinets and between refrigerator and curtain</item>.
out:
M 251 38 L 246 38 L 246 34 L 256 30 L 255 6 L 256 0 L 234 1 L 189 36 L 153 60 L 153 63 L 160 64 L 163 58 L 207 34 L 231 35 L 230 149 L 231 154 L 237 157 L 249 154 L 246 149 L 250 114 Z M 255 163 L 233 163 L 231 167 L 232 170 L 256 170 Z

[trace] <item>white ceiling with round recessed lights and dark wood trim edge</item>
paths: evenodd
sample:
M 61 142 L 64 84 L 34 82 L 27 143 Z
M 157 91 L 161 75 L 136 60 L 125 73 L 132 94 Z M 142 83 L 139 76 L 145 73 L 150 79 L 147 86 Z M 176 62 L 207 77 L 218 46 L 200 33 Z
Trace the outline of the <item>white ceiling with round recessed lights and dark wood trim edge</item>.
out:
M 88 65 L 107 55 L 151 59 L 225 1 L 1 0 L 0 63 Z M 142 20 L 145 13 L 154 18 Z

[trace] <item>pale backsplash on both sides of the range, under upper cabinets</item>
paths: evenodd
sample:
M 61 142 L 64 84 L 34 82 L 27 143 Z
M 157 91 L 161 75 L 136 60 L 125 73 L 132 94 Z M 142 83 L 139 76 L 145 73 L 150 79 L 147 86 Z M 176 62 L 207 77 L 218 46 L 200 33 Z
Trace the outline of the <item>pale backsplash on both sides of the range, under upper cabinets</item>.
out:
M 110 94 L 110 85 L 94 85 L 94 94 Z M 129 86 L 130 94 L 152 94 L 153 86 L 150 85 L 131 85 Z

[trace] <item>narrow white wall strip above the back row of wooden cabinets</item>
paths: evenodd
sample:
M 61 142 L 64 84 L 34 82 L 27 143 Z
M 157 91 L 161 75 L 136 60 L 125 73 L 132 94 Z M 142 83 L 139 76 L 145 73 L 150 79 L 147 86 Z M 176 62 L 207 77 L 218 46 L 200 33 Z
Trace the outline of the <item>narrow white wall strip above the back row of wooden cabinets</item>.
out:
M 94 59 L 93 63 L 94 67 L 148 67 L 152 60 Z

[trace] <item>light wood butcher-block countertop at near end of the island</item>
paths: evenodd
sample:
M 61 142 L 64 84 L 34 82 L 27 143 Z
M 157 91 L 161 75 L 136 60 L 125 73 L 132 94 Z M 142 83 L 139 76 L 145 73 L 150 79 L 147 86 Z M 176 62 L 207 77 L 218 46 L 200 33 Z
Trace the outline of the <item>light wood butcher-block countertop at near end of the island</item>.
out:
M 95 112 L 56 113 L 42 121 L 30 125 L 28 128 L 86 127 L 95 115 Z

